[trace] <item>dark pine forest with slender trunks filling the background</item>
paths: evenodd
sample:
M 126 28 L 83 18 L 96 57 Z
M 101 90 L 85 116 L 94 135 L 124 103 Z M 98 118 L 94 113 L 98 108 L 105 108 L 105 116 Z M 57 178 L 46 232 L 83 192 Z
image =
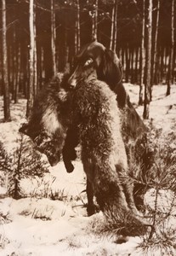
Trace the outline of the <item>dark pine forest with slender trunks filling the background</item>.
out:
M 175 0 L 3 0 L 0 93 L 4 119 L 14 102 L 33 97 L 58 72 L 68 72 L 83 44 L 98 40 L 122 60 L 124 80 L 139 84 L 149 117 L 152 84 L 175 79 Z M 144 90 L 145 88 L 145 90 Z M 145 100 L 145 101 L 144 101 Z

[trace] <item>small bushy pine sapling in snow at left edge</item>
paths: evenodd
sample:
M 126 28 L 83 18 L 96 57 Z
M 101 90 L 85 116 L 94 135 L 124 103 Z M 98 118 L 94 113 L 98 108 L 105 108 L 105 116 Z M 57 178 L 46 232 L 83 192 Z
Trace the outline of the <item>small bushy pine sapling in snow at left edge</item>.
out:
M 18 144 L 19 147 L 14 150 L 14 153 L 8 154 L 3 143 L 0 143 L 0 171 L 8 173 L 8 193 L 14 199 L 23 196 L 20 189 L 21 178 L 43 177 L 43 174 L 48 172 L 46 162 L 42 160 L 41 154 L 33 149 L 30 140 L 20 136 Z

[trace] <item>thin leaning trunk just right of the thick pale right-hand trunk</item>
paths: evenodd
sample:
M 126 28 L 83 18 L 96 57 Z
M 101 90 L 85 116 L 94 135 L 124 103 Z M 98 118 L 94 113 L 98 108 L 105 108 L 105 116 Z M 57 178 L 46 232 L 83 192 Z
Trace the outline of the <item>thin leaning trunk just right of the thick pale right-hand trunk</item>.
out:
M 153 76 L 152 76 L 152 81 L 151 84 L 156 83 L 156 76 L 157 76 L 157 41 L 158 41 L 158 27 L 159 27 L 159 16 L 160 16 L 160 0 L 157 0 L 157 13 L 156 13 L 156 34 L 155 34 L 155 41 L 154 41 L 154 50 L 153 50 L 153 55 L 154 55 L 154 60 L 153 60 Z

